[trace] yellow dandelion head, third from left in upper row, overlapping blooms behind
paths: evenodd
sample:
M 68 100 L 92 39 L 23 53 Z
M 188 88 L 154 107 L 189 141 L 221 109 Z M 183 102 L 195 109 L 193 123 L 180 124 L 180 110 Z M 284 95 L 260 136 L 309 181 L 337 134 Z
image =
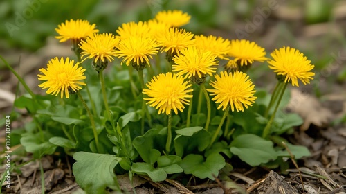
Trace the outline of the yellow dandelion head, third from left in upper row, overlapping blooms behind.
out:
M 122 39 L 115 52 L 118 58 L 123 58 L 122 62 L 126 61 L 127 66 L 131 63 L 140 65 L 144 62 L 149 65 L 149 58 L 152 59 L 152 55 L 158 52 L 158 46 L 160 44 L 153 37 L 135 36 Z

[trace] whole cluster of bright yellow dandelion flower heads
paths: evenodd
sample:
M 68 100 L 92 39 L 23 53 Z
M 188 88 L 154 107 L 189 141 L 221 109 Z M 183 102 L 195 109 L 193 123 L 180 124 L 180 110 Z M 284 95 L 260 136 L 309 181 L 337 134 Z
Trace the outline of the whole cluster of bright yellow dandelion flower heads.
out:
M 85 20 L 66 21 L 55 30 L 60 42 L 71 40 L 77 42 L 81 49 L 83 62 L 92 58 L 95 64 L 112 62 L 114 58 L 122 58 L 121 64 L 140 71 L 150 65 L 153 55 L 166 53 L 167 60 L 172 63 L 172 72 L 160 73 L 147 83 L 143 94 L 147 95 L 147 104 L 158 109 L 158 114 L 176 114 L 188 105 L 192 92 L 190 81 L 201 85 L 206 76 L 214 76 L 210 82 L 212 89 L 207 89 L 212 100 L 219 103 L 218 109 L 230 106 L 232 111 L 244 111 L 251 106 L 256 97 L 255 86 L 244 68 L 253 62 L 268 60 L 269 67 L 277 75 L 283 76 L 284 82 L 298 86 L 298 79 L 304 84 L 313 79 L 313 65 L 295 48 L 283 47 L 271 53 L 272 59 L 266 58 L 264 48 L 246 39 L 228 40 L 213 35 L 193 35 L 179 28 L 190 21 L 190 15 L 180 10 L 158 12 L 149 21 L 129 22 L 116 30 L 118 35 L 98 34 L 95 24 Z M 223 71 L 217 73 L 221 65 L 218 60 L 228 60 Z M 61 97 L 81 89 L 85 85 L 83 72 L 73 60 L 52 59 L 47 69 L 40 69 L 44 81 L 39 87 L 47 89 L 47 94 L 61 94 Z M 100 67 L 104 68 L 104 67 Z M 230 71 L 232 70 L 232 71 Z

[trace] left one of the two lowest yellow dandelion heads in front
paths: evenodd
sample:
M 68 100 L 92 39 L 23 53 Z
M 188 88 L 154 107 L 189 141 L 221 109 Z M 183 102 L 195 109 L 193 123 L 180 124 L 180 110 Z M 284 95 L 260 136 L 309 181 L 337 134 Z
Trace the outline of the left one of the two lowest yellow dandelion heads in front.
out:
M 147 87 L 149 89 L 143 89 L 143 94 L 149 98 L 144 99 L 148 100 L 147 104 L 151 107 L 158 109 L 158 114 L 168 115 L 172 110 L 178 114 L 178 109 L 183 112 L 184 104 L 190 103 L 190 100 L 185 98 L 192 98 L 192 95 L 188 94 L 192 92 L 192 89 L 188 89 L 191 85 L 185 82 L 183 77 L 171 72 L 154 76 L 147 83 Z

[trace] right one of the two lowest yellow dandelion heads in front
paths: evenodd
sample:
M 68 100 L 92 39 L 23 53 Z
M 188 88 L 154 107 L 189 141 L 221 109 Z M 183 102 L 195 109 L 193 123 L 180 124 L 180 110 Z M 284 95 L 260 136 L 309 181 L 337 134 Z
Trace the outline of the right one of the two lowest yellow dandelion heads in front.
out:
M 215 76 L 215 81 L 210 82 L 210 85 L 214 89 L 207 89 L 210 95 L 215 96 L 212 100 L 215 103 L 220 103 L 217 109 L 225 110 L 228 105 L 230 109 L 237 112 L 244 111 L 244 107 L 252 106 L 255 102 L 255 85 L 248 79 L 248 75 L 241 71 L 235 71 L 234 73 L 227 73 L 227 71 L 221 71 L 221 77 Z M 244 107 L 243 107 L 244 106 Z

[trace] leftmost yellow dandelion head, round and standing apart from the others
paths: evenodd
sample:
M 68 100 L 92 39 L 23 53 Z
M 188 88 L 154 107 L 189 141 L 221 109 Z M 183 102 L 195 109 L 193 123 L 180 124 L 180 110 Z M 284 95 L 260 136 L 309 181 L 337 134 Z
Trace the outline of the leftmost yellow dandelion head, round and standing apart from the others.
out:
M 80 85 L 86 85 L 81 80 L 85 80 L 84 71 L 82 67 L 78 67 L 79 62 L 74 64 L 74 60 L 66 58 L 51 59 L 47 64 L 47 69 L 41 68 L 39 71 L 43 75 L 37 75 L 39 80 L 44 80 L 39 87 L 42 89 L 48 88 L 47 94 L 53 94 L 57 96 L 60 93 L 60 98 L 65 94 L 66 98 L 69 98 L 69 92 L 76 92 L 82 87 Z

